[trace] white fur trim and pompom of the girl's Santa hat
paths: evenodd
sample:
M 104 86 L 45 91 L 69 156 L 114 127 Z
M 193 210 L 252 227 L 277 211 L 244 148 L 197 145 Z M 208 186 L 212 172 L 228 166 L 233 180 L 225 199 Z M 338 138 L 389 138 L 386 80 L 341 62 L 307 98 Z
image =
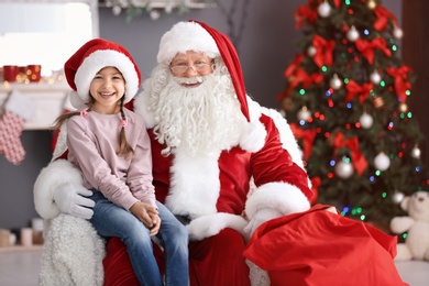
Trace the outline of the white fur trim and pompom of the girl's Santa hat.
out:
M 94 79 L 94 76 L 103 67 L 112 66 L 121 72 L 125 79 L 125 99 L 124 103 L 129 102 L 139 90 L 139 76 L 135 72 L 135 67 L 131 59 L 117 51 L 113 50 L 100 50 L 88 55 L 79 68 L 76 72 L 75 84 L 77 94 L 70 95 L 70 102 L 88 102 L 89 98 L 89 86 Z M 73 97 L 78 96 L 79 99 Z M 78 106 L 75 106 L 78 108 Z

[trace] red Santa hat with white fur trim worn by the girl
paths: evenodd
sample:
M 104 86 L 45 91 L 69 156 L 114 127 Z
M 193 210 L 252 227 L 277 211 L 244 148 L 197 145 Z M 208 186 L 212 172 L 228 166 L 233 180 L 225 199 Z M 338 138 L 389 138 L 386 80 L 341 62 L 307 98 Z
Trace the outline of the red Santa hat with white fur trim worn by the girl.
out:
M 94 38 L 84 44 L 64 65 L 68 85 L 76 92 L 70 94 L 70 102 L 77 109 L 85 109 L 89 102 L 89 86 L 95 75 L 103 67 L 118 68 L 125 79 L 124 103 L 138 92 L 141 84 L 139 67 L 130 53 L 121 45 Z

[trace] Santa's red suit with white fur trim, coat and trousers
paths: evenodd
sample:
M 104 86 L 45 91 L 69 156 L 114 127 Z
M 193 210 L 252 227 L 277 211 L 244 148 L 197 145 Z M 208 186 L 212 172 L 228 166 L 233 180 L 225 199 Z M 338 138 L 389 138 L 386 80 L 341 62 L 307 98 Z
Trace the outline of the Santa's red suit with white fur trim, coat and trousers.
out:
M 148 130 L 156 198 L 166 202 L 172 189 L 185 193 L 186 201 L 170 196 L 166 205 L 175 213 L 190 213 L 194 218 L 189 228 L 194 238 L 189 244 L 191 285 L 250 285 L 242 255 L 243 227 L 248 222 L 243 212 L 252 218 L 262 208 L 287 215 L 309 207 L 311 191 L 305 170 L 284 148 L 274 120 L 260 113 L 258 121 L 265 132 L 257 151 L 235 146 L 221 151 L 218 157 L 196 161 L 180 160 L 180 154 L 163 156 L 165 146 Z M 296 142 L 290 143 L 295 148 Z M 250 196 L 252 179 L 255 189 Z M 215 196 L 201 198 L 201 190 Z M 118 239 L 109 241 L 103 262 L 106 285 L 138 285 L 124 253 L 125 246 Z M 163 255 L 156 245 L 155 253 L 162 267 Z

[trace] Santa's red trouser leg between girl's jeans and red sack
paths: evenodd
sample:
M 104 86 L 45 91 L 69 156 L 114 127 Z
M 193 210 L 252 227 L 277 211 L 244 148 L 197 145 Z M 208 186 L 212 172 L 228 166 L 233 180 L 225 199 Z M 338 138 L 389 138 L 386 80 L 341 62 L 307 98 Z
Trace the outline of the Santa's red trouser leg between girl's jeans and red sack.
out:
M 224 229 L 219 234 L 189 243 L 191 286 L 249 286 L 249 266 L 244 261 L 243 237 Z

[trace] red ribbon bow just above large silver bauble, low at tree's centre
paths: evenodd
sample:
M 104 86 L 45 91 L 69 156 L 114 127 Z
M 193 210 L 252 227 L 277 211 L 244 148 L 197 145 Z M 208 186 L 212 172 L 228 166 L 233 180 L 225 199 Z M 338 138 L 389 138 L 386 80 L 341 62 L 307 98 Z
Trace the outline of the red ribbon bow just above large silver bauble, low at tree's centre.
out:
M 361 151 L 359 150 L 359 139 L 350 138 L 345 139 L 344 134 L 341 132 L 338 132 L 336 136 L 333 138 L 333 154 L 337 154 L 337 151 L 340 147 L 348 147 L 351 151 L 351 160 L 354 169 L 358 172 L 359 175 L 362 175 L 365 168 L 367 167 L 367 162 L 365 157 L 362 155 Z

